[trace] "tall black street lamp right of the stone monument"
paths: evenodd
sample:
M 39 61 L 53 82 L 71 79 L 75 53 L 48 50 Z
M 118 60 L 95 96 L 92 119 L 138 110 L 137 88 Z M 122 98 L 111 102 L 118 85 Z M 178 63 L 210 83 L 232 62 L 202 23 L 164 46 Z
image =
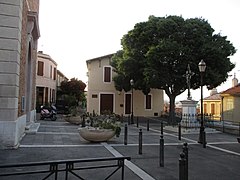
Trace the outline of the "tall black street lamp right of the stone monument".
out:
M 206 63 L 201 60 L 198 64 L 198 68 L 201 75 L 201 126 L 200 126 L 200 133 L 199 133 L 199 139 L 198 143 L 203 144 L 203 147 L 206 145 L 206 133 L 204 131 L 204 125 L 203 125 L 203 74 L 206 69 Z

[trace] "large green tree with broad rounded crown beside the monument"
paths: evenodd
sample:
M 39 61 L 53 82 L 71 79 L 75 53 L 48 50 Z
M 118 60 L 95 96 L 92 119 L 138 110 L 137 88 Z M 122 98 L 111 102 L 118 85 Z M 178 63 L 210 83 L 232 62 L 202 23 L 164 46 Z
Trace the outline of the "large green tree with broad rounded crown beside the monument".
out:
M 117 72 L 114 77 L 117 90 L 134 88 L 149 93 L 150 88 L 163 89 L 170 100 L 170 120 L 174 119 L 176 96 L 188 87 L 188 64 L 194 75 L 191 88 L 200 86 L 198 63 L 207 65 L 203 85 L 208 89 L 227 80 L 235 65 L 229 57 L 236 52 L 226 36 L 214 34 L 214 29 L 202 18 L 184 19 L 179 16 L 155 17 L 137 23 L 121 39 L 122 50 L 112 58 Z

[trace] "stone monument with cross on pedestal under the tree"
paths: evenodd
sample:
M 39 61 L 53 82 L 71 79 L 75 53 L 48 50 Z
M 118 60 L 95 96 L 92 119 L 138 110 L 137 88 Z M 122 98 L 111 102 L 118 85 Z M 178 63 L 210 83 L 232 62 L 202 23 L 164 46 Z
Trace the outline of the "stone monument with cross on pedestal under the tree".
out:
M 190 88 L 191 88 L 191 77 L 194 75 L 191 72 L 190 65 L 188 64 L 186 71 L 186 81 L 188 87 L 187 100 L 180 101 L 182 104 L 182 120 L 181 126 L 186 128 L 196 128 L 199 127 L 199 123 L 196 118 L 196 107 L 198 101 L 192 99 Z

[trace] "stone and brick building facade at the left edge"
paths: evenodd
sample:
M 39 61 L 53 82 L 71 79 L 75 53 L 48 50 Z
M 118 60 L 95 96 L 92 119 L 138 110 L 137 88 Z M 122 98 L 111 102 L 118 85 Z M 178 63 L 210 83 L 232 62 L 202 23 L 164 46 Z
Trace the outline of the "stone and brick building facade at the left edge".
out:
M 34 123 L 39 0 L 0 1 L 0 148 Z

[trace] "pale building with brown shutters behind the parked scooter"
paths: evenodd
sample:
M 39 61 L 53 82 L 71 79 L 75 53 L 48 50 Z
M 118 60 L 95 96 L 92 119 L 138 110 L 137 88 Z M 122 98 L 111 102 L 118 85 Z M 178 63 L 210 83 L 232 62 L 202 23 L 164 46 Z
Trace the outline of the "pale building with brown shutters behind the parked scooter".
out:
M 37 57 L 37 106 L 49 105 L 56 101 L 57 63 L 42 51 Z

